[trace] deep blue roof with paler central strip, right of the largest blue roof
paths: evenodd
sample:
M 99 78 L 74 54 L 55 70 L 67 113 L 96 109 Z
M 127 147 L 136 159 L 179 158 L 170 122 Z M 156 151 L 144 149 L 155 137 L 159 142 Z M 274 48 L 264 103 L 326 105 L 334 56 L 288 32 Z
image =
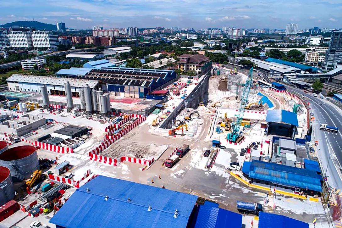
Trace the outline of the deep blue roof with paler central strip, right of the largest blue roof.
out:
M 195 228 L 241 228 L 242 215 L 218 207 L 200 205 L 197 208 Z

